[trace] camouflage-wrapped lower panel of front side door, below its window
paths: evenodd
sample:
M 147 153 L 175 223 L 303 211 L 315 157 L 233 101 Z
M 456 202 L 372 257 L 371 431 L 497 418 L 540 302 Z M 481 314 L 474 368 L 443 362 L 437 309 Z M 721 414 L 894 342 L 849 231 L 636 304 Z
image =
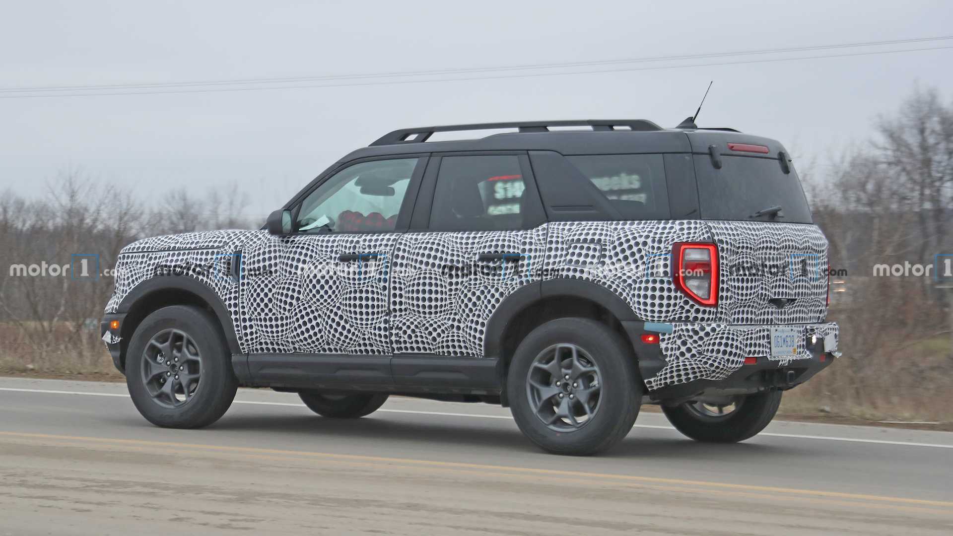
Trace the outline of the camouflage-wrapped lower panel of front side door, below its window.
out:
M 248 353 L 389 355 L 390 256 L 399 234 L 274 237 L 242 245 Z M 360 258 L 340 261 L 341 255 Z

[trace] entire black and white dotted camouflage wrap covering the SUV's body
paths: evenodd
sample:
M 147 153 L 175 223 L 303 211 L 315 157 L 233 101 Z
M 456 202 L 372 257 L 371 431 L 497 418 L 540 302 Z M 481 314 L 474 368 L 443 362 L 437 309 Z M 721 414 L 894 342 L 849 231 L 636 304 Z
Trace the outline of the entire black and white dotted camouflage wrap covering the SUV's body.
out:
M 675 242 L 718 244 L 720 300 L 704 307 L 672 282 Z M 228 271 L 241 251 L 241 278 Z M 483 253 L 518 253 L 480 262 Z M 341 255 L 360 255 L 340 262 Z M 523 285 L 581 278 L 646 321 L 673 324 L 650 389 L 720 380 L 769 356 L 769 325 L 837 337 L 826 315 L 827 241 L 813 225 L 664 220 L 557 222 L 528 231 L 274 237 L 212 231 L 139 240 L 119 257 L 106 312 L 162 266 L 219 296 L 246 353 L 481 357 L 487 322 Z M 784 298 L 779 309 L 769 299 Z M 793 300 L 793 301 L 792 301 Z M 801 346 L 794 359 L 809 357 Z M 830 348 L 828 348 L 830 350 Z

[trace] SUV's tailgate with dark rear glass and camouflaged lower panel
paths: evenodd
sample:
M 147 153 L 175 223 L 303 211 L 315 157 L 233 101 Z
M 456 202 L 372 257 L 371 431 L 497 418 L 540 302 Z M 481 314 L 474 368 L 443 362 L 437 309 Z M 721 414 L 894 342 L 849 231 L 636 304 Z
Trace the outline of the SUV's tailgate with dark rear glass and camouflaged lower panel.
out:
M 719 249 L 719 320 L 824 320 L 827 239 L 812 223 L 798 174 L 783 147 L 743 134 L 689 137 L 700 217 Z

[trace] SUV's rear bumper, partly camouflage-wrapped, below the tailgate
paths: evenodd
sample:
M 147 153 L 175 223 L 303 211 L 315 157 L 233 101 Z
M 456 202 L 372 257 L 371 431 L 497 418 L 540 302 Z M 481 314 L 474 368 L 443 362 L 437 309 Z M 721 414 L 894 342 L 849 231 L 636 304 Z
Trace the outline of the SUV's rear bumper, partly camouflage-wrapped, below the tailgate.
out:
M 646 327 L 660 330 L 659 352 L 653 356 L 656 362 L 643 364 L 639 355 L 642 379 L 655 400 L 702 392 L 741 394 L 772 387 L 791 388 L 807 381 L 840 355 L 839 330 L 834 322 L 787 326 L 686 322 Z M 772 327 L 803 330 L 794 357 L 771 357 Z M 757 362 L 745 364 L 745 358 L 756 358 Z

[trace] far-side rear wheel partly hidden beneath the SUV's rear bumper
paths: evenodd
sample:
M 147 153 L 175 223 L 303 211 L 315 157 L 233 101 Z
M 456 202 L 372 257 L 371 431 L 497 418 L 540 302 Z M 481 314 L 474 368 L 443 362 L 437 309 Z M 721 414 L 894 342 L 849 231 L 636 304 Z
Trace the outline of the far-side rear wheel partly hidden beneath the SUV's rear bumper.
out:
M 781 391 L 740 395 L 707 401 L 662 405 L 669 423 L 695 441 L 737 443 L 754 437 L 774 419 Z

